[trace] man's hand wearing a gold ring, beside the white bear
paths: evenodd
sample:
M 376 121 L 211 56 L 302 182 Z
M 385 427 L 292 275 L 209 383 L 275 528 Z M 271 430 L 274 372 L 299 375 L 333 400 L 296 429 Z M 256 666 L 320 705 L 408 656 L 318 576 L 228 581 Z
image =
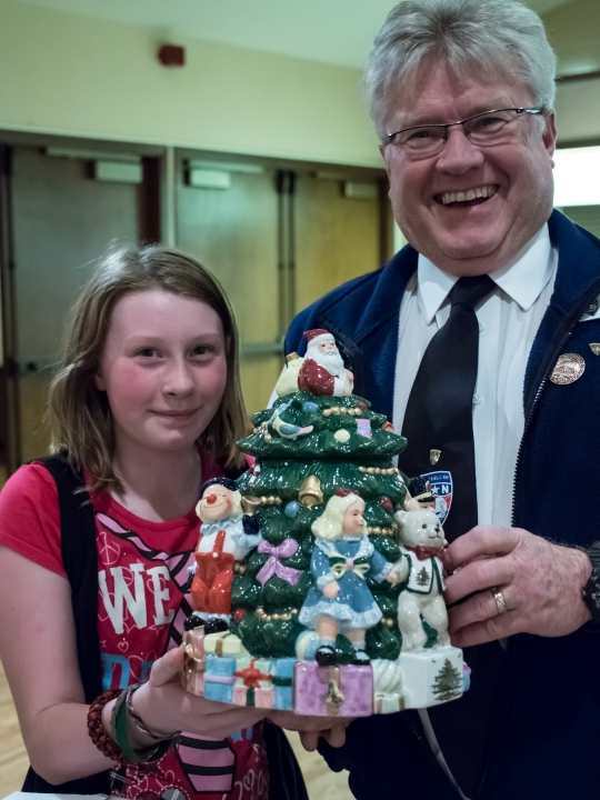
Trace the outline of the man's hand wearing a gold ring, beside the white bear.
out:
M 590 618 L 581 588 L 591 574 L 584 552 L 552 544 L 521 528 L 478 526 L 454 540 L 447 552 L 446 602 L 452 644 L 470 647 L 512 633 L 559 637 Z M 502 592 L 499 614 L 491 588 Z

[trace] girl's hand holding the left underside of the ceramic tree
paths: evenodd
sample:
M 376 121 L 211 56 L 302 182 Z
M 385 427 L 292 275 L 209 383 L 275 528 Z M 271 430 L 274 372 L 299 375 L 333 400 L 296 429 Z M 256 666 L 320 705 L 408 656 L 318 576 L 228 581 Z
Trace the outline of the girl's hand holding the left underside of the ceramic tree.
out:
M 171 650 L 154 661 L 150 680 L 133 693 L 133 708 L 153 733 L 187 731 L 223 739 L 269 713 L 269 709 L 230 706 L 191 694 L 179 682 L 182 666 L 183 651 Z

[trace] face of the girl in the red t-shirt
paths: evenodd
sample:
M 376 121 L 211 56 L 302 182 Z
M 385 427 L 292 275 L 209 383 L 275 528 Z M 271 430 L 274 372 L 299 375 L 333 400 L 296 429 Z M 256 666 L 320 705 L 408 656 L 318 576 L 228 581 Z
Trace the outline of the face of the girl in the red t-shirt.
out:
M 193 447 L 226 381 L 223 328 L 210 306 L 161 289 L 117 302 L 96 386 L 108 394 L 120 450 Z

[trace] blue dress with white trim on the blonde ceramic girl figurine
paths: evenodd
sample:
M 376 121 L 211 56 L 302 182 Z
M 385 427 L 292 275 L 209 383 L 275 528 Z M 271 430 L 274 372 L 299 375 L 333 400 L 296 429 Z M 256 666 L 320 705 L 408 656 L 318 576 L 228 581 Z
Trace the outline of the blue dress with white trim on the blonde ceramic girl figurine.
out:
M 354 628 L 372 628 L 382 614 L 364 578 L 382 581 L 391 568 L 366 536 L 334 541 L 317 539 L 310 562 L 314 586 L 300 609 L 298 621 L 316 628 L 319 617 L 334 617 L 342 633 Z M 340 586 L 338 596 L 327 598 L 322 590 L 336 580 Z

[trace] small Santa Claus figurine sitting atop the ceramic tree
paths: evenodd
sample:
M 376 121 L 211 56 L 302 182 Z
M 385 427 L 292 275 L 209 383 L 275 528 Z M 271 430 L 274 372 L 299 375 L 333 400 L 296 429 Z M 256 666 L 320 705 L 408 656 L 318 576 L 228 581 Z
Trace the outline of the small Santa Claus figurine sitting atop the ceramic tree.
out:
M 313 394 L 351 394 L 354 377 L 344 369 L 336 340 L 329 331 L 316 328 L 304 331 L 308 340 L 304 363 L 298 373 L 298 389 Z

